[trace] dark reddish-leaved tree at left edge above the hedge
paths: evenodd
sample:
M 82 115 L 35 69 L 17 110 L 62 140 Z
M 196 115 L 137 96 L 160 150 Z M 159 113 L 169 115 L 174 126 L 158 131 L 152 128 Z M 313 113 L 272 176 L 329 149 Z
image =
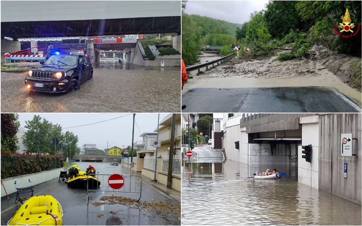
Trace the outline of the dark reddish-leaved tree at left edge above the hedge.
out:
M 1 151 L 16 152 L 19 149 L 16 136 L 20 122 L 18 114 L 1 114 Z

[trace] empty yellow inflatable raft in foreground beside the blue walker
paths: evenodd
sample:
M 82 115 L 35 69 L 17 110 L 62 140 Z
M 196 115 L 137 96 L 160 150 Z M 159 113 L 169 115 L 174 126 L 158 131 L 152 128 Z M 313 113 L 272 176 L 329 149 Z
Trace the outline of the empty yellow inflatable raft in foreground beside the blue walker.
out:
M 51 195 L 30 197 L 8 225 L 63 225 L 62 206 Z

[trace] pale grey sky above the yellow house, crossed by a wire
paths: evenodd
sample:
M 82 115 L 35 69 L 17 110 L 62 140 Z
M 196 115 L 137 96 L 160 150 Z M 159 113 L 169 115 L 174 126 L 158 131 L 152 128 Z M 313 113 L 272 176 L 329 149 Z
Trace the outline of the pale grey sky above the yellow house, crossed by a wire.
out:
M 125 145 L 125 147 L 127 147 L 127 145 L 131 145 L 132 143 L 132 114 L 39 113 L 37 115 L 40 115 L 40 117 L 42 118 L 46 118 L 53 124 L 60 124 L 62 128 L 80 126 L 124 116 L 121 118 L 93 125 L 63 129 L 63 132 L 71 131 L 75 135 L 78 135 L 78 147 L 80 148 L 82 148 L 83 144 L 85 143 L 97 144 L 98 149 L 107 148 L 107 141 L 109 142 L 109 148 L 114 147 L 114 145 L 123 148 L 122 145 Z M 167 115 L 168 114 L 161 113 L 160 121 Z M 24 128 L 24 126 L 26 125 L 25 121 L 29 121 L 33 119 L 33 117 L 34 113 L 19 113 L 20 127 Z M 139 130 L 135 125 L 134 142 L 137 140 L 142 140 L 142 138 L 139 137 L 142 132 L 153 132 L 153 130 L 157 128 L 157 117 L 157 113 L 136 114 L 135 122 L 137 123 Z

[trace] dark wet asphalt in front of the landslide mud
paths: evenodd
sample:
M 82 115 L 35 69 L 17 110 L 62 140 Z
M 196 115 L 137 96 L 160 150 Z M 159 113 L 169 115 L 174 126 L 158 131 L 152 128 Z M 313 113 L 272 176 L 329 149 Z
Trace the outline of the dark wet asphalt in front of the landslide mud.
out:
M 193 88 L 182 94 L 182 112 L 361 112 L 336 90 L 325 87 Z

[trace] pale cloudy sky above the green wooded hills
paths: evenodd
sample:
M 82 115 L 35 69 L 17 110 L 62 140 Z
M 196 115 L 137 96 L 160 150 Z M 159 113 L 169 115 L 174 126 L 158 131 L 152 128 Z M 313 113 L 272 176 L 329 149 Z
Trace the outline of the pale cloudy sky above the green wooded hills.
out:
M 198 14 L 232 23 L 244 23 L 250 13 L 265 9 L 269 1 L 188 1 L 185 13 Z

